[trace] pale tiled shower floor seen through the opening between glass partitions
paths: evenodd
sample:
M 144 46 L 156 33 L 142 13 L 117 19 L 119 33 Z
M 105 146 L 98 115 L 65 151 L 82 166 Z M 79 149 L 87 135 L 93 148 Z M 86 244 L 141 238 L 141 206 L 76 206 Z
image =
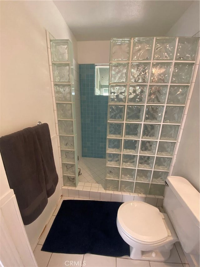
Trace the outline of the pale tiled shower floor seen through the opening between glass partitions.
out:
M 81 169 L 79 182 L 98 183 L 105 187 L 105 168 L 106 159 L 82 157 L 78 161 L 78 167 Z

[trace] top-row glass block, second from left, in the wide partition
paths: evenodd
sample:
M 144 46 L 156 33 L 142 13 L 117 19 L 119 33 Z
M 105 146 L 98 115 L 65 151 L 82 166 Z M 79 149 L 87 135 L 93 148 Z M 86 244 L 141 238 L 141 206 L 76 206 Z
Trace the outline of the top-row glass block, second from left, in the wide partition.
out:
M 134 38 L 132 60 L 151 60 L 153 38 Z

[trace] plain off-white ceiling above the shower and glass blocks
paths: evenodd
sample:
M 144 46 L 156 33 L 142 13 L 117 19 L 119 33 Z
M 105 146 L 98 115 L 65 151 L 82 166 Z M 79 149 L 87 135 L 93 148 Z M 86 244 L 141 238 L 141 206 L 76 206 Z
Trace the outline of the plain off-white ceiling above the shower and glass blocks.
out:
M 53 1 L 77 41 L 165 36 L 193 1 Z

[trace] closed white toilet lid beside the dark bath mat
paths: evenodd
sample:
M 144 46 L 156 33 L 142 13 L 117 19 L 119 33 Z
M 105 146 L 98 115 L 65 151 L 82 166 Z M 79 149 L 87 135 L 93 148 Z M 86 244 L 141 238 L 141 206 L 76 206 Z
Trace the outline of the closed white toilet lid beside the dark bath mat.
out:
M 138 242 L 158 243 L 168 237 L 158 208 L 141 201 L 128 201 L 118 209 L 123 231 Z

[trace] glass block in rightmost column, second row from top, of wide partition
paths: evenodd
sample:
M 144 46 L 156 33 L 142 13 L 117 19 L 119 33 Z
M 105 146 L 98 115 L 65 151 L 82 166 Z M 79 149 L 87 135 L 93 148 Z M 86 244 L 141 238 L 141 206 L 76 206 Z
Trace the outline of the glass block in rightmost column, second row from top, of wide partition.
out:
M 194 63 L 175 63 L 172 80 L 173 84 L 190 84 Z

